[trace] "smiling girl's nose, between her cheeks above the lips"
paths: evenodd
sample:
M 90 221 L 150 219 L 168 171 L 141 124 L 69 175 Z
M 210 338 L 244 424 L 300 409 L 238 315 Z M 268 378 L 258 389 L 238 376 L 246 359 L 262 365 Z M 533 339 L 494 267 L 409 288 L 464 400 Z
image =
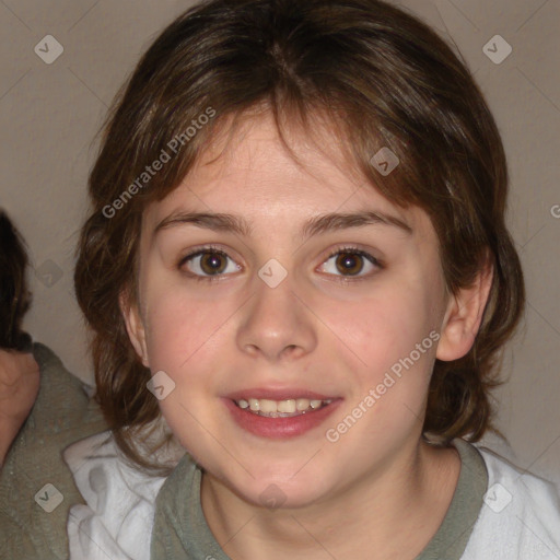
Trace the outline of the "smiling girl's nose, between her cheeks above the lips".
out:
M 315 349 L 316 335 L 313 314 L 293 291 L 290 275 L 276 288 L 256 278 L 237 329 L 241 351 L 270 362 L 298 359 Z

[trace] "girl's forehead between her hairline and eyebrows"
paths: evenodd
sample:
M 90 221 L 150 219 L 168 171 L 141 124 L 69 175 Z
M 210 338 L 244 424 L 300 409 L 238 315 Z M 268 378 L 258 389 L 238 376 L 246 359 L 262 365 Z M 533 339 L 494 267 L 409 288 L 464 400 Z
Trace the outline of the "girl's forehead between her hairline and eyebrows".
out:
M 282 129 L 292 153 L 268 113 L 243 120 L 230 137 L 231 130 L 222 127 L 179 186 L 148 207 L 147 229 L 186 211 L 295 226 L 312 215 L 372 210 L 408 224 L 417 235 L 433 235 L 425 212 L 392 203 L 357 172 L 328 126 L 317 122 L 313 133 Z

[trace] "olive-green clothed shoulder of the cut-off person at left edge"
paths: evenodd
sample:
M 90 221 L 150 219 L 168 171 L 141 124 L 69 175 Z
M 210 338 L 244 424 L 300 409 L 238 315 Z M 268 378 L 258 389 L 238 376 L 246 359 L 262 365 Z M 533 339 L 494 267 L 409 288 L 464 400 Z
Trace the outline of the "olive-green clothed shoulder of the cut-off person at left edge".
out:
M 67 553 L 68 510 L 82 499 L 62 451 L 106 429 L 82 381 L 45 345 L 35 342 L 32 351 L 40 371 L 39 392 L 0 471 L 0 540 L 5 558 L 13 560 Z

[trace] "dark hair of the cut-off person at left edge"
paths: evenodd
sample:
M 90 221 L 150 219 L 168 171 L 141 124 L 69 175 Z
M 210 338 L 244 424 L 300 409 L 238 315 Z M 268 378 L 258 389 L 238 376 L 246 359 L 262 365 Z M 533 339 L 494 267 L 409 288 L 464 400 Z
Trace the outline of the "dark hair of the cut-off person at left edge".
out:
M 27 264 L 22 236 L 0 210 L 0 348 L 28 350 L 31 345 L 30 335 L 22 330 L 23 316 L 31 305 Z

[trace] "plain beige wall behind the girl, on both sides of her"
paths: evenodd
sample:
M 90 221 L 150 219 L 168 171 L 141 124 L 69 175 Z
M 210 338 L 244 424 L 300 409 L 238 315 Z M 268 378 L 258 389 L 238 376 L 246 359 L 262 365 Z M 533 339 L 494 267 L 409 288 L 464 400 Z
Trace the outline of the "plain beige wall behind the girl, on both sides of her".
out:
M 0 0 L 0 206 L 30 247 L 34 305 L 26 328 L 90 382 L 72 268 L 93 139 L 141 52 L 191 3 Z M 498 424 L 510 445 L 494 436 L 487 443 L 560 485 L 560 1 L 400 4 L 453 37 L 503 135 L 509 224 L 528 304 L 523 329 L 505 352 L 510 382 L 495 393 Z

